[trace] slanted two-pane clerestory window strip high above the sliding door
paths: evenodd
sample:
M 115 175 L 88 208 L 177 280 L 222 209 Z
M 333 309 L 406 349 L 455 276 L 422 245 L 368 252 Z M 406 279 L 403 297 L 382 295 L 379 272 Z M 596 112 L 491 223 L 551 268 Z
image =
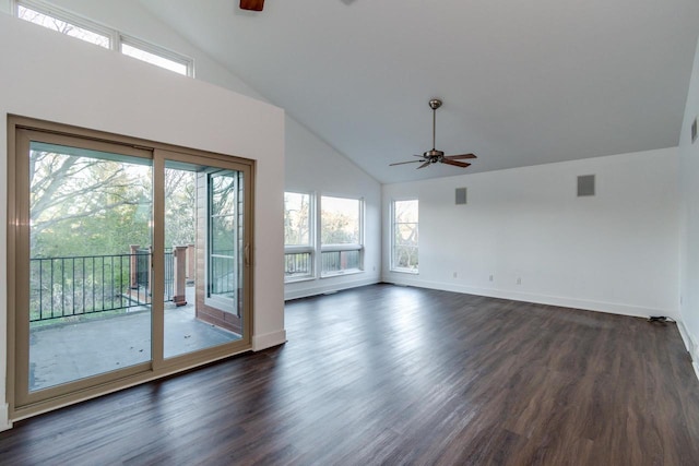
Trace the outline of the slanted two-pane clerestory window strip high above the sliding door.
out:
M 15 15 L 34 24 L 85 40 L 99 47 L 165 68 L 175 73 L 193 76 L 192 60 L 162 47 L 119 34 L 118 31 L 62 11 L 42 0 L 16 0 Z

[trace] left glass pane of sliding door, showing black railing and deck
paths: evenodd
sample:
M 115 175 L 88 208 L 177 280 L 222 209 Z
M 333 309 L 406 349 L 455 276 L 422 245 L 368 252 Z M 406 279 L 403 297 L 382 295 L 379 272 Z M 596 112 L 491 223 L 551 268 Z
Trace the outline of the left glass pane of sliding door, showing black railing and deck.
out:
M 32 142 L 29 391 L 151 359 L 150 160 Z

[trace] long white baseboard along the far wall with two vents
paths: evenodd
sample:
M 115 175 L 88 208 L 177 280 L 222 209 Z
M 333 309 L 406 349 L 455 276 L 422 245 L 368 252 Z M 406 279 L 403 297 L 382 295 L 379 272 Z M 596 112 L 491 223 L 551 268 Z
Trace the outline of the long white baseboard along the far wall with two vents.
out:
M 427 282 L 413 277 L 401 278 L 386 277 L 384 283 L 394 285 L 408 285 L 422 288 L 441 289 L 445 291 L 465 292 L 469 295 L 486 296 L 488 298 L 511 299 L 513 301 L 535 302 L 537 304 L 558 306 L 561 308 L 583 309 L 587 311 L 607 312 L 611 314 L 630 315 L 635 318 L 648 318 L 649 315 L 674 315 L 674 311 L 667 309 L 653 309 L 640 306 L 619 304 L 615 302 L 591 301 L 585 299 L 547 296 L 533 292 L 503 290 L 496 288 L 476 288 L 464 285 L 454 285 L 441 282 Z

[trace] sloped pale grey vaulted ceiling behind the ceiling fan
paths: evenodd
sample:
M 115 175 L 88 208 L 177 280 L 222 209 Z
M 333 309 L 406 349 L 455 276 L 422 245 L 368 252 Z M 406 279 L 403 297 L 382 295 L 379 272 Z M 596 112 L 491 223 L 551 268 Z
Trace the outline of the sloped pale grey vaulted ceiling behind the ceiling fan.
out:
M 140 0 L 381 182 L 678 144 L 697 0 Z M 389 167 L 437 148 L 467 168 Z

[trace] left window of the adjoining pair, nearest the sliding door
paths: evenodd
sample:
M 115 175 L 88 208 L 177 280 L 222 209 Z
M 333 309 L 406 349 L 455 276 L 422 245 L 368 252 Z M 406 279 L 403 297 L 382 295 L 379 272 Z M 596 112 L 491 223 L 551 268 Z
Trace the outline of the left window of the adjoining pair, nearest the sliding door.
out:
M 311 195 L 284 193 L 284 279 L 313 276 Z

